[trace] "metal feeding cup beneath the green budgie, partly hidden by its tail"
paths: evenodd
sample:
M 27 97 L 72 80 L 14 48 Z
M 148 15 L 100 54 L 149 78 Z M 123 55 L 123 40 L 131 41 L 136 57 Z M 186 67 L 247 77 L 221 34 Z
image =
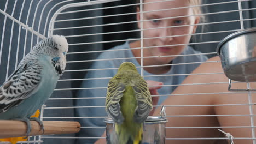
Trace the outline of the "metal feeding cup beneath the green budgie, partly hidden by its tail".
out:
M 141 144 L 164 144 L 165 143 L 165 124 L 168 122 L 165 114 L 165 105 L 162 105 L 160 117 L 149 116 L 146 119 L 146 124 L 144 125 L 145 131 L 143 131 L 143 138 Z M 107 143 L 110 143 L 110 136 L 113 136 L 114 121 L 112 118 L 105 118 L 104 122 L 106 123 L 106 133 L 107 133 Z

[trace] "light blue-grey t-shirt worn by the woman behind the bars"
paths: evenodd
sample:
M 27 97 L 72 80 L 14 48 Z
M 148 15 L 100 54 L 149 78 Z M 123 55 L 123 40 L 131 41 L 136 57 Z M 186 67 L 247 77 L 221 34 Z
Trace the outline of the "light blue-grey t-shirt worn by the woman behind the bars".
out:
M 106 51 L 100 54 L 97 59 L 113 59 L 113 58 L 127 58 L 127 59 L 115 59 L 115 60 L 104 60 L 95 61 L 92 64 L 91 70 L 86 74 L 86 78 L 96 78 L 96 77 L 113 77 L 118 69 L 104 69 L 104 68 L 118 68 L 121 63 L 129 61 L 137 66 L 140 66 L 136 61 L 135 57 L 130 49 L 131 41 L 126 41 L 123 45 L 115 46 L 110 51 Z M 125 50 L 122 50 L 125 49 Z M 118 50 L 118 51 L 112 51 Z M 195 51 L 193 48 L 187 46 L 182 55 L 196 54 L 200 53 Z M 130 59 L 129 59 L 130 58 Z M 173 74 L 190 74 L 200 63 L 189 64 L 193 62 L 203 62 L 206 61 L 207 57 L 205 55 L 193 55 L 193 56 L 178 56 L 173 59 L 171 69 L 165 75 Z M 183 64 L 188 63 L 188 64 Z M 177 64 L 177 65 L 176 65 Z M 104 69 L 104 70 L 93 70 L 93 69 Z M 138 72 L 141 73 L 141 68 L 137 68 Z M 153 80 L 163 82 L 164 85 L 177 85 L 182 83 L 186 75 L 178 76 L 156 76 L 150 74 L 144 70 L 144 80 Z M 85 80 L 83 81 L 82 88 L 96 88 L 99 89 L 83 89 L 78 92 L 78 98 L 94 98 L 94 97 L 106 97 L 107 85 L 109 79 L 96 79 L 96 80 Z M 158 89 L 160 95 L 168 95 L 173 92 L 177 86 L 163 86 Z M 161 96 L 159 98 L 158 105 L 160 105 L 168 96 Z M 76 106 L 102 106 L 102 107 L 91 107 L 91 108 L 79 108 L 75 109 L 76 115 L 79 117 L 106 117 L 106 111 L 104 108 L 105 99 L 95 98 L 95 99 L 79 99 L 75 101 Z M 104 118 L 82 118 L 78 119 L 82 127 L 104 127 L 106 124 L 103 122 Z M 105 128 L 85 128 L 81 129 L 77 136 L 79 137 L 100 137 Z M 97 139 L 77 139 L 77 143 L 94 143 Z

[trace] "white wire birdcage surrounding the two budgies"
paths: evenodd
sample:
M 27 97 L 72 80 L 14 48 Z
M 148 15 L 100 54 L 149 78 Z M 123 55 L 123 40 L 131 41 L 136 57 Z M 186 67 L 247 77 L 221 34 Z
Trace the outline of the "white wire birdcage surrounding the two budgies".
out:
M 216 57 L 226 36 L 256 26 L 254 0 L 2 0 L 0 13 L 0 83 L 40 40 L 64 35 L 67 67 L 40 119 L 81 125 L 18 143 L 106 143 L 107 83 L 125 61 L 164 82 L 149 88 L 161 87 L 152 97 L 155 116 L 166 106 L 165 143 L 256 143 L 255 83 L 229 80 Z M 228 91 L 231 81 L 244 91 Z

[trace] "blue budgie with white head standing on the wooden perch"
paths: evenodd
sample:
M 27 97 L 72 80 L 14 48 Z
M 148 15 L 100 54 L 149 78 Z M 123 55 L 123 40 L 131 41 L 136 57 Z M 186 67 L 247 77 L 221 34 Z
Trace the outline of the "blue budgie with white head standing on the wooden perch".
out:
M 19 63 L 17 69 L 0 87 L 0 119 L 16 119 L 27 123 L 53 93 L 57 80 L 66 67 L 68 43 L 65 37 L 53 35 L 43 39 Z

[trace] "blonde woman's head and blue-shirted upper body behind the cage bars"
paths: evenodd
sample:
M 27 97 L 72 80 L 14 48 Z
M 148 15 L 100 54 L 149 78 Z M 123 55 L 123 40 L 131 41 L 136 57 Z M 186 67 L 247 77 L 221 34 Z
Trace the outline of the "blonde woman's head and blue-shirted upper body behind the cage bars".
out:
M 137 24 L 138 28 L 143 27 L 143 47 L 148 47 L 143 50 L 144 58 L 143 65 L 162 65 L 160 67 L 145 67 L 144 79 L 149 85 L 175 85 L 181 83 L 185 79 L 185 75 L 179 76 L 158 76 L 158 75 L 171 75 L 171 74 L 189 74 L 200 64 L 183 64 L 183 65 L 168 65 L 178 63 L 189 63 L 189 62 L 202 62 L 206 61 L 205 55 L 200 55 L 199 51 L 195 51 L 190 47 L 189 41 L 191 38 L 190 34 L 195 33 L 197 25 L 201 18 L 200 7 L 189 7 L 191 5 L 200 5 L 200 0 L 176 0 L 176 1 L 165 1 L 162 0 L 145 0 L 143 1 L 143 11 L 150 11 L 143 13 L 143 17 L 137 13 Z M 185 7 L 185 8 L 184 8 Z M 178 9 L 176 9 L 178 8 Z M 169 9 L 169 10 L 164 10 Z M 137 6 L 137 12 L 141 11 L 139 5 Z M 170 18 L 174 17 L 174 18 Z M 139 20 L 143 20 L 143 26 Z M 174 37 L 176 35 L 182 35 Z M 136 57 L 133 59 L 118 59 L 112 61 L 96 61 L 92 64 L 91 69 L 101 68 L 118 68 L 119 65 L 125 61 L 134 63 L 137 67 L 141 65 L 141 50 L 135 49 L 141 47 L 141 40 L 132 41 L 127 40 L 123 45 L 116 46 L 110 50 L 117 51 L 106 51 L 101 53 L 97 59 L 108 59 L 108 58 L 129 58 Z M 124 50 L 121 50 L 124 49 Z M 188 54 L 199 54 L 193 56 L 177 56 L 177 55 L 188 55 Z M 141 71 L 138 68 L 138 71 Z M 117 73 L 117 69 L 110 70 L 94 70 L 88 71 L 86 78 L 95 77 L 113 77 Z M 108 79 L 100 80 L 87 80 L 82 83 L 82 87 L 107 87 Z M 176 87 L 149 87 L 152 95 L 154 94 L 170 94 Z M 158 91 L 156 92 L 156 89 Z M 105 97 L 106 89 L 85 89 L 81 90 L 77 97 Z M 158 104 L 162 103 L 166 97 L 160 97 Z M 153 99 L 156 104 L 158 99 Z M 75 103 L 77 106 L 104 106 L 104 99 L 86 99 L 77 100 Z M 98 108 L 86 108 L 76 109 L 77 115 L 80 117 L 86 116 L 107 116 L 104 111 L 104 107 Z M 83 126 L 99 127 L 104 126 L 103 118 L 86 118 L 79 119 L 79 122 Z M 104 132 L 104 129 L 82 129 L 78 136 L 81 137 L 99 137 Z M 97 139 L 77 139 L 78 143 L 93 143 Z

